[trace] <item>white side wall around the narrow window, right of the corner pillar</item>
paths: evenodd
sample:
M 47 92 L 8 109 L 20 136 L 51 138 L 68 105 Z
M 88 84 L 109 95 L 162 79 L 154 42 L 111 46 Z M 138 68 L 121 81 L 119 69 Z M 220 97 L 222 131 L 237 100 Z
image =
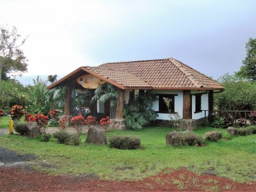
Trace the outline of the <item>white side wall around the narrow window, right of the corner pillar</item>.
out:
M 193 93 L 200 93 L 198 91 L 191 91 L 191 94 Z M 205 91 L 203 91 L 202 93 L 205 93 Z M 192 95 L 192 118 L 193 119 L 200 119 L 200 118 L 204 118 L 204 111 L 200 112 L 200 113 L 195 113 L 196 110 L 196 101 L 195 101 L 195 95 Z M 208 106 L 208 92 L 207 94 L 202 94 L 201 97 L 201 110 L 208 110 L 209 106 Z M 208 111 L 206 111 L 206 116 L 208 116 Z

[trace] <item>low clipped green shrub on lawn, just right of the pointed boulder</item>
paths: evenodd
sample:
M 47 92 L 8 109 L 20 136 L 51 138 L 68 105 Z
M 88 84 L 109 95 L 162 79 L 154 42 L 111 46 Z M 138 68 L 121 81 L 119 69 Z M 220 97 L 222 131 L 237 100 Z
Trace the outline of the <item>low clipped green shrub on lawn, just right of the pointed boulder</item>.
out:
M 140 138 L 136 136 L 112 136 L 109 139 L 110 147 L 119 149 L 136 149 L 140 147 Z

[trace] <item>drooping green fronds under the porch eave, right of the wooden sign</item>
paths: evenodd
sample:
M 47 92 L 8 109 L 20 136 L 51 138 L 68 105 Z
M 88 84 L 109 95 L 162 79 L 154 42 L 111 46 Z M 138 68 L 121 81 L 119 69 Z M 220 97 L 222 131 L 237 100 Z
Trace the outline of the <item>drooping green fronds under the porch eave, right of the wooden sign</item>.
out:
M 92 101 L 106 102 L 109 100 L 111 108 L 115 108 L 116 99 L 118 98 L 118 90 L 115 86 L 109 83 L 100 84 L 94 94 Z

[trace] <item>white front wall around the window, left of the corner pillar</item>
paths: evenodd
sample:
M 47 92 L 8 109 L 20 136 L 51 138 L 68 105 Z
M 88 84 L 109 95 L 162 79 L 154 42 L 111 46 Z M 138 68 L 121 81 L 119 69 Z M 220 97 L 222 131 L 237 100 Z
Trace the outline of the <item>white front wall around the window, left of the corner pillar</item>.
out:
M 152 93 L 154 94 L 177 94 L 174 98 L 174 111 L 179 113 L 180 118 L 182 118 L 182 110 L 183 110 L 183 91 L 182 90 L 154 90 Z M 159 101 L 156 100 L 153 102 L 154 111 L 159 111 Z M 157 113 L 159 116 L 157 119 L 159 120 L 170 120 L 169 113 Z

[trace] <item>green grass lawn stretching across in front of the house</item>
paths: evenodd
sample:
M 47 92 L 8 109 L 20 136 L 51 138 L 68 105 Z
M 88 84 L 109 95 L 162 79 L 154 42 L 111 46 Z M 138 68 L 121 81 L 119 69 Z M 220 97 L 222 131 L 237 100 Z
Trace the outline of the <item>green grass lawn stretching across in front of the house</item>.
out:
M 202 127 L 195 133 L 203 136 L 212 130 Z M 106 132 L 108 138 L 121 134 L 139 136 L 145 150 L 86 145 L 86 134 L 78 147 L 58 144 L 54 138 L 44 143 L 40 139 L 29 140 L 17 135 L 0 136 L 0 146 L 23 154 L 36 154 L 38 163 L 52 165 L 36 168 L 53 174 L 94 173 L 101 179 L 137 180 L 156 175 L 165 168 L 186 167 L 198 174 L 214 170 L 221 177 L 241 182 L 256 180 L 256 134 L 222 139 L 207 143 L 205 147 L 167 147 L 165 136 L 170 131 L 168 127 L 149 127 L 141 131 Z M 227 136 L 226 129 L 218 131 Z

